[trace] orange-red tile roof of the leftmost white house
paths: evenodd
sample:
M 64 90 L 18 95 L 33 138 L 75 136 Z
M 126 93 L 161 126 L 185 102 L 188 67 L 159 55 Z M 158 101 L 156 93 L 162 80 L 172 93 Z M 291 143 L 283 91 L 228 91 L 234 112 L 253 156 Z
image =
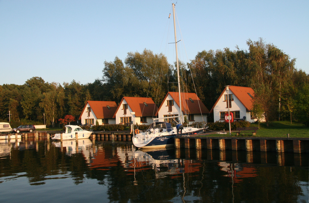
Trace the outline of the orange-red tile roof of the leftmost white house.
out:
M 95 114 L 97 119 L 112 118 L 117 109 L 117 104 L 114 101 L 87 101 L 82 114 L 85 112 L 87 104 L 90 105 L 91 111 Z M 108 109 L 107 106 L 109 106 L 110 109 Z M 82 118 L 82 114 L 79 116 L 79 120 Z

